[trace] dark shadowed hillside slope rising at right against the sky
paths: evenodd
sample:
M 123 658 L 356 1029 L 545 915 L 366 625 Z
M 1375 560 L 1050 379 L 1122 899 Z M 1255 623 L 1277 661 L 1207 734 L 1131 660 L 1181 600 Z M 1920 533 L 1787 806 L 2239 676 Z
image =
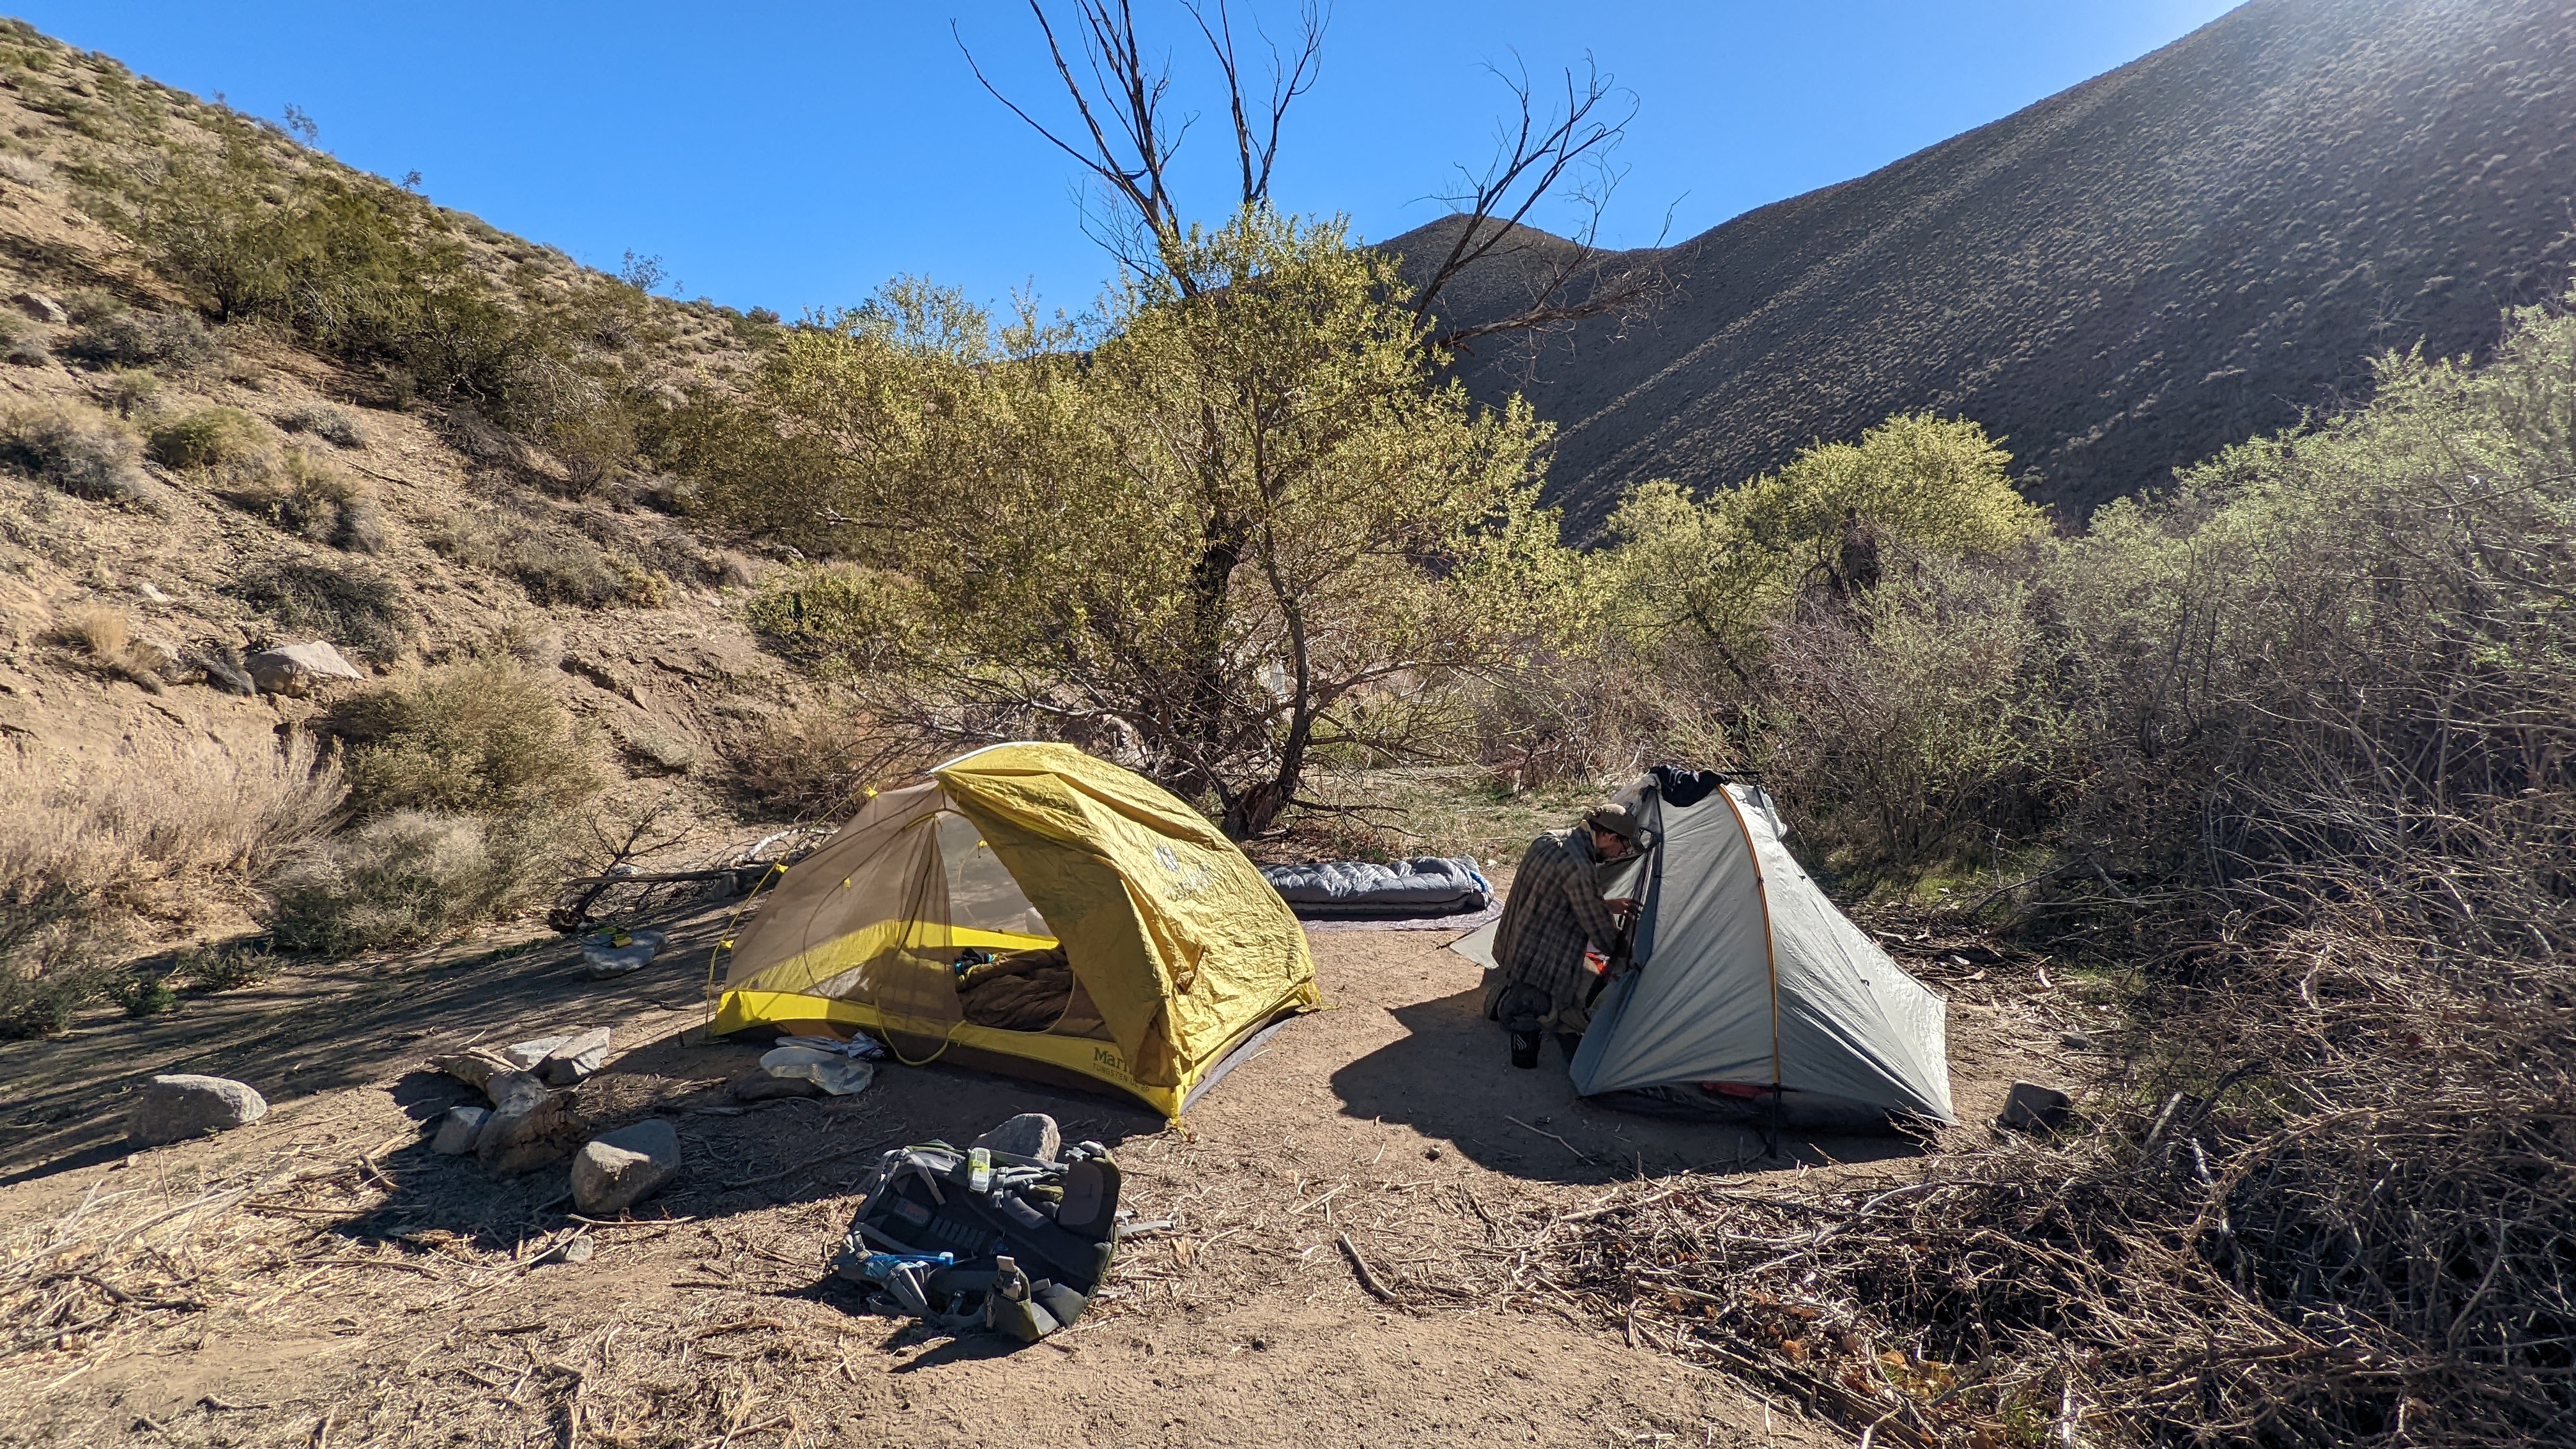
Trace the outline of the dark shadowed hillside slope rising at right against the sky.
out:
M 1435 222 L 1388 242 L 1445 250 Z M 1564 248 L 1556 237 L 1535 245 Z M 1577 526 L 1935 407 L 2081 516 L 2421 340 L 2483 348 L 2576 263 L 2568 0 L 2254 0 L 2110 75 L 1664 253 L 1674 299 L 1468 387 L 1561 428 Z M 1515 302 L 1512 263 L 1450 294 Z

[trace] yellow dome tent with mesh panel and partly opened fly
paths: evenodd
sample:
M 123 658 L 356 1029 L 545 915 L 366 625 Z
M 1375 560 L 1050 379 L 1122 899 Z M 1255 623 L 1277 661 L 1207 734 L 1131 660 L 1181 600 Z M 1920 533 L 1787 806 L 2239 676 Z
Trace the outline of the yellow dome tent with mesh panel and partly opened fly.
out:
M 855 1026 L 909 1065 L 1180 1116 L 1314 1006 L 1306 931 L 1206 817 L 1069 745 L 992 745 L 876 794 L 760 892 L 714 1031 Z

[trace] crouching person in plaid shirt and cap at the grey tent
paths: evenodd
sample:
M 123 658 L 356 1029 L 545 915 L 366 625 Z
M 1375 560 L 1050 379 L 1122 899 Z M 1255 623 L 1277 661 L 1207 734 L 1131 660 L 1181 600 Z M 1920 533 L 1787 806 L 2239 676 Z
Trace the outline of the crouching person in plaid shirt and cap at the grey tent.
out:
M 1512 1065 L 1538 1065 L 1538 1039 L 1556 1034 L 1566 1060 L 1592 1024 L 1592 998 L 1605 975 L 1584 964 L 1584 951 L 1610 962 L 1615 975 L 1625 959 L 1620 936 L 1631 900 L 1602 900 L 1605 864 L 1625 861 L 1638 848 L 1638 820 L 1631 807 L 1595 810 L 1574 830 L 1548 830 L 1530 841 L 1512 877 L 1512 895 L 1494 928 L 1494 975 L 1486 982 L 1484 1013 L 1512 1034 Z

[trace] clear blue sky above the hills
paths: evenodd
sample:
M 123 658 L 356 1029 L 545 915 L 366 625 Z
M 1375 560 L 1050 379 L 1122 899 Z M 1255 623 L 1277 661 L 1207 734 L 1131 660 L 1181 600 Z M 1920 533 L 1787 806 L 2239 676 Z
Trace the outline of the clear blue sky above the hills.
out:
M 1236 0 L 1244 5 L 1247 0 Z M 1249 0 L 1273 23 L 1291 0 Z M 1492 150 L 1486 62 L 1595 57 L 1636 93 L 1605 232 L 1646 245 L 1862 175 L 2136 59 L 2231 0 L 1342 0 L 1321 85 L 1291 116 L 1278 201 L 1363 237 L 1437 217 Z M 77 46 L 232 106 L 301 106 L 322 147 L 495 227 L 616 268 L 659 255 L 734 307 L 863 299 L 925 273 L 1087 304 L 1110 266 L 1079 232 L 1074 165 L 984 95 L 951 21 L 1023 103 L 1056 113 L 1028 10 L 1005 0 L 21 0 Z M 1224 116 L 1195 31 L 1139 0 L 1208 111 L 1185 160 L 1226 209 Z M 1517 62 L 1515 62 L 1517 57 Z M 1538 217 L 1540 224 L 1561 217 Z

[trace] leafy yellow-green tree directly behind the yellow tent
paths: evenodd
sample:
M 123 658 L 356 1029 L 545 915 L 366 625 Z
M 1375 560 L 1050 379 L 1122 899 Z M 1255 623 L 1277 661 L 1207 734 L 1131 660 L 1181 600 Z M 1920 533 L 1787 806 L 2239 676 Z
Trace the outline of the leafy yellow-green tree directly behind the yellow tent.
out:
M 881 722 L 1105 748 L 1255 833 L 1319 750 L 1419 750 L 1440 686 L 1507 668 L 1577 567 L 1546 428 L 1435 379 L 1391 260 L 1247 209 L 1175 263 L 1087 351 L 889 289 L 703 413 L 701 477 L 845 559 L 755 614 Z

